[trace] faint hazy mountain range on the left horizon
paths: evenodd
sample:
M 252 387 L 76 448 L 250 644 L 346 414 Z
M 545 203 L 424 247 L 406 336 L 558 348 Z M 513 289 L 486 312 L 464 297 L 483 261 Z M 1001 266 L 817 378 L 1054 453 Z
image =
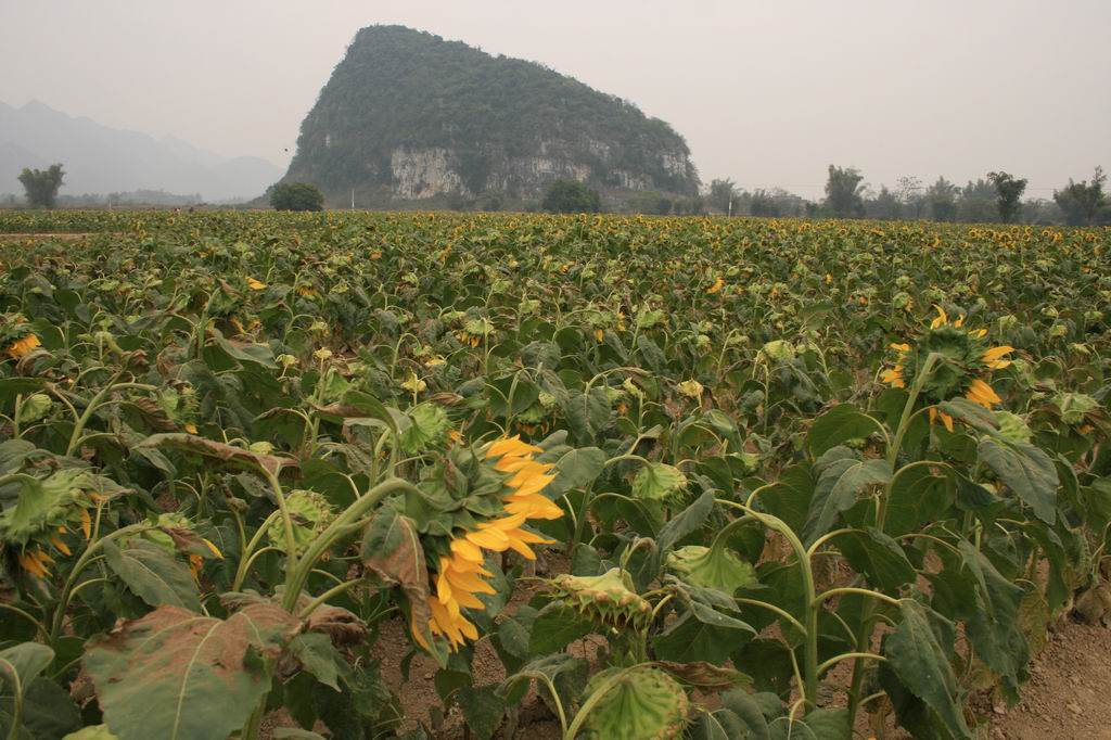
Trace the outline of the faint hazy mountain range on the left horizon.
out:
M 61 194 L 163 190 L 206 200 L 256 198 L 283 170 L 258 157 L 220 157 L 166 137 L 101 126 L 38 101 L 22 108 L 0 102 L 0 193 L 21 193 L 24 167 L 61 162 Z

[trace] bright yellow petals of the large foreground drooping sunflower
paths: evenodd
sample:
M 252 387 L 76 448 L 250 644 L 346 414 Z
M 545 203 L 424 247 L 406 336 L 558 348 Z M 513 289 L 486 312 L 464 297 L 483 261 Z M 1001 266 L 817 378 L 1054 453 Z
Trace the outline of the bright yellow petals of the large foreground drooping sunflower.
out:
M 552 463 L 533 460 L 532 456 L 541 451 L 539 447 L 522 442 L 519 437 L 499 440 L 484 450 L 487 460 L 496 460 L 494 470 L 509 476 L 504 481 L 509 492 L 502 498 L 506 514 L 452 538 L 451 556 L 440 557 L 434 578 L 436 593 L 428 600 L 432 613 L 429 629 L 432 634 L 447 638 L 452 650 L 467 640 L 478 639 L 478 628 L 462 610 L 484 609 L 476 594 L 496 592 L 484 580 L 492 578 L 493 573 L 482 567 L 486 562 L 483 550 L 513 550 L 528 560 L 534 560 L 537 556 L 529 546 L 551 544 L 554 541 L 523 529 L 529 519 L 559 519 L 563 516 L 563 510 L 541 493 L 556 479 L 550 474 L 554 468 Z M 412 633 L 419 644 L 428 648 L 416 624 L 412 626 Z

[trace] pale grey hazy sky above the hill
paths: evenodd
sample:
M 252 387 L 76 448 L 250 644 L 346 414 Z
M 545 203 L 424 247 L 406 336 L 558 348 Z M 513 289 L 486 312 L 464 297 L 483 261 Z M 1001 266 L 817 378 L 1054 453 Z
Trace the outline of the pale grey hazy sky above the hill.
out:
M 540 61 L 687 138 L 702 180 L 820 193 L 1111 168 L 1111 0 L 0 0 L 0 100 L 286 164 L 356 31 Z M 286 149 L 289 149 L 289 153 Z

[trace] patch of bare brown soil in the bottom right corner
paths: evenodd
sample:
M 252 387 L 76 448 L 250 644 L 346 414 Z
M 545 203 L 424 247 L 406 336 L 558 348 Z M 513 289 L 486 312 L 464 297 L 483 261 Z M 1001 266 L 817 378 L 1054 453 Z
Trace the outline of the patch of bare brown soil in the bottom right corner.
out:
M 1111 629 L 1068 622 L 1034 660 L 991 740 L 1111 740 Z

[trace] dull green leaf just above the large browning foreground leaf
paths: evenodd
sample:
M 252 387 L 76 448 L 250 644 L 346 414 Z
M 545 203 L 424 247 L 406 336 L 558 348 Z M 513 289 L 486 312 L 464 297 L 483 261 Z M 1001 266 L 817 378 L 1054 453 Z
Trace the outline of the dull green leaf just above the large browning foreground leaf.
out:
M 146 540 L 132 540 L 120 548 L 107 540 L 103 550 L 112 572 L 151 607 L 169 604 L 190 611 L 201 610 L 197 583 L 189 567 L 162 548 Z

